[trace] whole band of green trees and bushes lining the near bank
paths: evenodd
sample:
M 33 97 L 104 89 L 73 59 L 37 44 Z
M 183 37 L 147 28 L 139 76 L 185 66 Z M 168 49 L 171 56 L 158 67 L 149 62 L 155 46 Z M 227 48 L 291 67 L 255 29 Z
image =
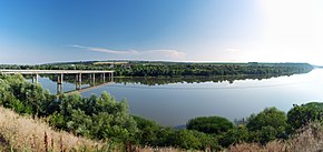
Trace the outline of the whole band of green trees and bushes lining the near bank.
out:
M 57 99 L 19 74 L 0 74 L 0 105 L 22 115 L 43 119 L 57 130 L 88 139 L 183 150 L 218 151 L 242 142 L 266 144 L 293 136 L 310 122 L 323 121 L 323 104 L 311 102 L 294 105 L 287 113 L 266 108 L 234 123 L 218 115 L 194 118 L 187 122 L 186 129 L 174 129 L 131 115 L 126 100 L 116 101 L 107 92 L 100 97 L 71 94 Z

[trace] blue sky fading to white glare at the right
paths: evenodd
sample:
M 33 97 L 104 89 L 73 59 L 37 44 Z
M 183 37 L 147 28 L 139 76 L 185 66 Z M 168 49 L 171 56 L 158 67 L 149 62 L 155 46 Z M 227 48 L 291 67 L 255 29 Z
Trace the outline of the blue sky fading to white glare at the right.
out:
M 322 0 L 1 0 L 0 63 L 323 64 Z

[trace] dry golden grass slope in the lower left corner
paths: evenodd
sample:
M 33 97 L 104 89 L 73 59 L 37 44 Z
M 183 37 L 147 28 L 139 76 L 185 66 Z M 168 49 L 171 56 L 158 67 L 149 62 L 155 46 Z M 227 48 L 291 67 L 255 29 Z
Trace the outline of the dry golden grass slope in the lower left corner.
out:
M 53 131 L 46 123 L 0 107 L 0 151 L 102 151 L 109 144 Z

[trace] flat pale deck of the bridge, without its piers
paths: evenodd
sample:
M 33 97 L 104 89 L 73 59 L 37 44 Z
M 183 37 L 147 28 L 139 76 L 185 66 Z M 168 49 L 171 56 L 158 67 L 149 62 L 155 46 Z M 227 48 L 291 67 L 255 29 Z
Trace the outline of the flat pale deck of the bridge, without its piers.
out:
M 78 74 L 78 73 L 114 73 L 115 71 L 98 70 L 0 70 L 7 74 Z

